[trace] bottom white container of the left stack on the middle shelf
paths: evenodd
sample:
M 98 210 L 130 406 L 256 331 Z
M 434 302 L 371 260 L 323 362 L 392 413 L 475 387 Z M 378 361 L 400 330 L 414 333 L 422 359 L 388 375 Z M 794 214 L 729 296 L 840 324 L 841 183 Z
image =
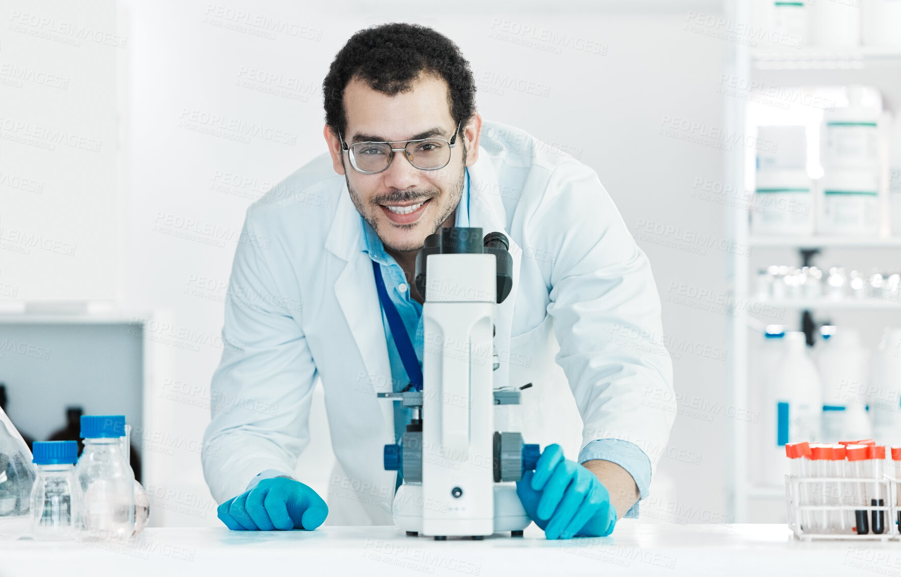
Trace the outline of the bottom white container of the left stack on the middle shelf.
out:
M 759 235 L 814 233 L 814 194 L 804 168 L 758 170 L 751 231 Z

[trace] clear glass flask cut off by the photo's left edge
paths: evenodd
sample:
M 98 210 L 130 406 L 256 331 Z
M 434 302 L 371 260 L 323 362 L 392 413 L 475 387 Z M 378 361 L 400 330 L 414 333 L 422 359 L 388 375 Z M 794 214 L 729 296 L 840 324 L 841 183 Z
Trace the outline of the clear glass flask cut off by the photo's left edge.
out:
M 0 538 L 28 534 L 33 484 L 32 452 L 0 409 Z

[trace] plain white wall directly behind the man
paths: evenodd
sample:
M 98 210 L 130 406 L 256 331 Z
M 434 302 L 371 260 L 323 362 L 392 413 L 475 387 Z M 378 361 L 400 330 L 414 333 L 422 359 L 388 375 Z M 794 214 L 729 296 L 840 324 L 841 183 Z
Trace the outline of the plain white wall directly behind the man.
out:
M 155 375 L 156 422 L 146 424 L 175 439 L 172 454 L 157 455 L 159 470 L 149 472 L 157 497 L 153 523 L 218 523 L 195 447 L 209 420 L 225 284 L 244 211 L 324 151 L 319 87 L 336 51 L 360 28 L 395 20 L 430 25 L 456 41 L 477 72 L 483 117 L 557 143 L 594 167 L 623 220 L 643 235 L 639 243 L 664 299 L 666 342 L 678 348 L 680 410 L 688 409 L 676 419 L 643 516 L 694 522 L 727 515 L 729 423 L 711 409 L 728 403 L 726 363 L 682 350 L 687 342 L 724 351 L 725 318 L 666 300 L 673 284 L 723 293 L 725 255 L 673 248 L 665 236 L 642 232 L 647 223 L 663 223 L 724 234 L 723 208 L 692 196 L 696 179 L 722 180 L 721 152 L 660 133 L 665 118 L 722 125 L 716 90 L 724 45 L 684 30 L 689 10 L 714 4 L 577 3 L 560 12 L 560 3 L 552 11 L 538 3 L 515 11 L 456 3 L 426 14 L 384 2 L 325 12 L 287 0 L 124 2 L 129 160 L 120 304 L 162 310 L 171 320 L 171 328 L 159 330 L 170 343 L 162 346 L 169 368 Z M 289 32 L 262 31 L 238 11 L 286 23 Z M 591 41 L 592 48 L 542 50 L 548 47 L 514 32 L 527 26 L 572 35 L 579 46 Z M 505 87 L 505 77 L 546 86 L 547 94 Z M 294 141 L 204 133 L 208 117 L 278 129 Z M 314 410 L 314 447 L 300 467 L 309 477 L 299 473 L 314 486 L 324 482 L 331 458 L 320 411 Z

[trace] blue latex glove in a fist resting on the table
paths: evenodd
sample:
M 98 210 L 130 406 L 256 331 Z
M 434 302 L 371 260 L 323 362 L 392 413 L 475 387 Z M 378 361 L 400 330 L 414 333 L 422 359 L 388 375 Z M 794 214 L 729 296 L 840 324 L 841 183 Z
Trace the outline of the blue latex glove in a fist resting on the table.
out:
M 329 508 L 304 483 L 275 477 L 225 501 L 216 513 L 232 531 L 312 531 L 323 524 Z

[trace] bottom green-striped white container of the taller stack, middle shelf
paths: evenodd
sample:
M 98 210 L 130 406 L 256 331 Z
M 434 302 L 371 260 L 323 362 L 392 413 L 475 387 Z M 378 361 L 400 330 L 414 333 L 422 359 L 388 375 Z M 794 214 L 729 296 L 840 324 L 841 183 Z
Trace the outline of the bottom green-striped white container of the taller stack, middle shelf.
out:
M 878 236 L 879 175 L 876 168 L 826 167 L 820 180 L 823 235 Z

